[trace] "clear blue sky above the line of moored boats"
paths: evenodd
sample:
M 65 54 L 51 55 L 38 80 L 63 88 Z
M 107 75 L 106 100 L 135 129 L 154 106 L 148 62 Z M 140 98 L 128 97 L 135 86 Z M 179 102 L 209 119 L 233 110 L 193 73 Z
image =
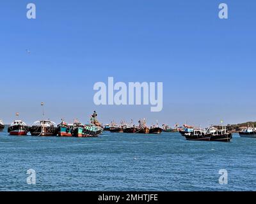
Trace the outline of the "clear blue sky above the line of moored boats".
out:
M 26 4 L 36 4 L 36 19 Z M 218 5 L 228 4 L 228 20 Z M 14 1 L 0 3 L 0 118 L 31 122 L 148 119 L 170 125 L 256 120 L 255 1 Z M 26 52 L 31 51 L 31 54 Z M 93 84 L 163 82 L 163 111 L 95 106 Z

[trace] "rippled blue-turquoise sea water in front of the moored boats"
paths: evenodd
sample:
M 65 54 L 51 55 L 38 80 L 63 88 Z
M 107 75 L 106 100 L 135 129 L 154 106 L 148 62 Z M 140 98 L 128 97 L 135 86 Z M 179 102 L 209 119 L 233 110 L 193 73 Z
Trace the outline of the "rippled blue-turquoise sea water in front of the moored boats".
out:
M 179 133 L 99 138 L 0 133 L 0 191 L 254 191 L 256 139 L 190 142 Z M 27 170 L 36 171 L 28 185 Z M 228 171 L 220 185 L 219 170 Z

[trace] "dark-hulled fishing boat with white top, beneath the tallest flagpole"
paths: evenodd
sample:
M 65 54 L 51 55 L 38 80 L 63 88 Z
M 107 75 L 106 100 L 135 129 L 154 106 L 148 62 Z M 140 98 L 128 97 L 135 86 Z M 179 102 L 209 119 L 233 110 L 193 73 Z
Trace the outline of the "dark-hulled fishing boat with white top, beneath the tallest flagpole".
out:
M 32 136 L 57 136 L 58 129 L 55 122 L 50 120 L 37 120 L 30 128 Z

